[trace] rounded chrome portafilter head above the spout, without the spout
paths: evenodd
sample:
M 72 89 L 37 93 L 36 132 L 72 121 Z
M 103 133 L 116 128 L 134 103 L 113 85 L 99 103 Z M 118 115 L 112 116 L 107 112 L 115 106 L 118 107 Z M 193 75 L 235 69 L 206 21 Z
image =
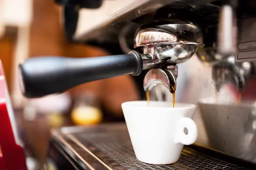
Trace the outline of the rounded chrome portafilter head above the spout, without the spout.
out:
M 144 55 L 151 55 L 151 60 L 147 59 L 144 63 L 145 69 L 160 63 L 182 63 L 192 57 L 197 46 L 204 46 L 198 26 L 179 20 L 168 22 L 166 25 L 157 25 L 156 22 L 154 26 L 138 29 L 135 33 L 134 48 L 141 47 Z

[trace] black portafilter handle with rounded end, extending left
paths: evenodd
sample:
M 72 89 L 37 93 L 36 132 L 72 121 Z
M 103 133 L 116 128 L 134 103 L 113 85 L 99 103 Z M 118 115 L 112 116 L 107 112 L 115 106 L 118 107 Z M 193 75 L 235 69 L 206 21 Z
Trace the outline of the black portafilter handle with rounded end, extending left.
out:
M 140 75 L 142 68 L 142 58 L 136 51 L 93 58 L 38 57 L 19 65 L 19 84 L 24 96 L 38 98 L 89 81 Z

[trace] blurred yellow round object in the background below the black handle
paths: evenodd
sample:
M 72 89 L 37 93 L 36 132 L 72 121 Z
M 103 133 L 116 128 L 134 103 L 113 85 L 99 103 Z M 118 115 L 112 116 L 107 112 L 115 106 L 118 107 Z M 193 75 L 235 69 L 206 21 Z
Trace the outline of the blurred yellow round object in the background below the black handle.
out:
M 96 107 L 80 106 L 73 109 L 71 119 L 79 125 L 97 124 L 102 121 L 102 112 Z

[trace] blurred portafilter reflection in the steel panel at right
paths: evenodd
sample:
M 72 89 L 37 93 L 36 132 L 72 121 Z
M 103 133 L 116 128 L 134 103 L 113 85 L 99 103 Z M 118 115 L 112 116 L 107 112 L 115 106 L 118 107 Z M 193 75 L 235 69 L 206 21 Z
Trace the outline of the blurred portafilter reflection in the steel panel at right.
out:
M 217 91 L 231 83 L 239 92 L 243 92 L 246 88 L 245 79 L 256 74 L 255 62 L 236 63 L 234 55 L 222 58 L 214 48 L 199 49 L 197 54 L 203 63 L 212 66 L 212 79 Z

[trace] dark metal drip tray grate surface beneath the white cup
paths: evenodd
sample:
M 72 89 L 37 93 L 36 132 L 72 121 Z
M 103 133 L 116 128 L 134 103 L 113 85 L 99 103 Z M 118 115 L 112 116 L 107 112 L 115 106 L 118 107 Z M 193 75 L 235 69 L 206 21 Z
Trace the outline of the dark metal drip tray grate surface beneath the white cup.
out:
M 136 159 L 126 128 L 70 133 L 84 147 L 111 169 L 118 170 L 234 170 L 244 169 L 236 164 L 208 156 L 190 147 L 184 147 L 180 159 L 174 164 L 146 164 Z M 86 158 L 84 158 L 86 159 Z

